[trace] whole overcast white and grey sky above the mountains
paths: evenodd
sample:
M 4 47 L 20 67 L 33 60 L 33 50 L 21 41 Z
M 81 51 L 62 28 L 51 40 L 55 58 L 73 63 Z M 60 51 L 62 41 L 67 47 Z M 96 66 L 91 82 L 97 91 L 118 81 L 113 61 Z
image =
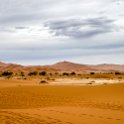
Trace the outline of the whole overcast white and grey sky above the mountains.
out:
M 0 61 L 124 64 L 124 0 L 0 0 Z

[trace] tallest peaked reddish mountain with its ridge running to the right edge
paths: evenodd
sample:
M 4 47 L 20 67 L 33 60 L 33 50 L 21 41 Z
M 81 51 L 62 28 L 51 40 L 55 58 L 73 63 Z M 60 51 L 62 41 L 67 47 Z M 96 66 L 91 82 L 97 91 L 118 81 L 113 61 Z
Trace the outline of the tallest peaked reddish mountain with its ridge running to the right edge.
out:
M 99 64 L 99 65 L 88 65 L 88 64 L 76 64 L 68 61 L 58 62 L 50 66 L 53 69 L 59 70 L 77 70 L 77 71 L 124 71 L 124 65 L 116 64 Z

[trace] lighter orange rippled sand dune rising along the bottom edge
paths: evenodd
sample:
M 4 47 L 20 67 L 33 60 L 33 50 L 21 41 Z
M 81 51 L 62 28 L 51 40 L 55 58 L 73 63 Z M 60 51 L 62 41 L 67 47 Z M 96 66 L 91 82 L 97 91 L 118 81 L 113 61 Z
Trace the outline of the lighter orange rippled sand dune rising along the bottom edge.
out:
M 123 112 L 81 107 L 47 107 L 0 112 L 1 122 L 10 124 L 123 124 L 123 116 Z

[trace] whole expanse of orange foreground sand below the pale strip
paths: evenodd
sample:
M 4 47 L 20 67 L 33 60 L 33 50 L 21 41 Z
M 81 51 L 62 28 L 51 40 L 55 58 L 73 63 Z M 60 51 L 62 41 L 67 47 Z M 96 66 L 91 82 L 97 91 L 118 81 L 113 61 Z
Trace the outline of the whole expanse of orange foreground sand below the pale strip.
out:
M 0 80 L 0 124 L 124 124 L 124 83 L 29 82 Z

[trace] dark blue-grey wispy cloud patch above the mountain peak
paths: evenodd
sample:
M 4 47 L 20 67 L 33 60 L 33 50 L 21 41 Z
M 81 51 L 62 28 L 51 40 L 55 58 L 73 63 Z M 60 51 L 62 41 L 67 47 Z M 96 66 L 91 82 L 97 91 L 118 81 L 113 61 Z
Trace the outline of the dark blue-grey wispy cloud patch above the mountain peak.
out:
M 114 31 L 114 20 L 107 18 L 66 19 L 51 21 L 45 24 L 56 36 L 89 38 L 98 34 Z

